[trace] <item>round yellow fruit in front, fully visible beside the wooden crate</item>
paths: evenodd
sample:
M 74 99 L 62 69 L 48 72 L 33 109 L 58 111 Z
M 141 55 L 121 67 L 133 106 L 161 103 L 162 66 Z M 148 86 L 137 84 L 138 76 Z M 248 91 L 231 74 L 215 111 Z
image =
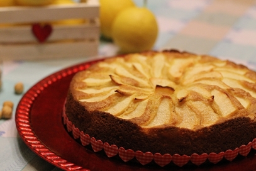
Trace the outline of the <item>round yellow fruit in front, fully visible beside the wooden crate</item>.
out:
M 157 35 L 157 21 L 147 8 L 125 9 L 113 21 L 113 40 L 123 53 L 150 50 Z

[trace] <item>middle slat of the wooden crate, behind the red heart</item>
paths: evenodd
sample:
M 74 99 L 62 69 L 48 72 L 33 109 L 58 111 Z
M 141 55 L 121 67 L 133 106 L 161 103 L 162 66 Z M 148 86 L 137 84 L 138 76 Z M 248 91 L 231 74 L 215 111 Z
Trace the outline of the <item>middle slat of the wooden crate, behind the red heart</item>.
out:
M 98 39 L 100 33 L 99 22 L 82 25 L 52 25 L 52 29 L 47 41 Z M 32 25 L 0 27 L 0 44 L 36 41 L 32 33 Z

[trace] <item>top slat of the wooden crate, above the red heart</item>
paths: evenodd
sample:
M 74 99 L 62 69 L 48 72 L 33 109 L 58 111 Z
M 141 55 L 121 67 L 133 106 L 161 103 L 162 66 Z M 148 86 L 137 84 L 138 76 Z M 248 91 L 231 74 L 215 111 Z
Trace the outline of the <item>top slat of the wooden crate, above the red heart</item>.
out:
M 98 16 L 99 3 L 97 0 L 69 5 L 0 8 L 0 23 L 30 23 L 70 18 L 97 18 Z

